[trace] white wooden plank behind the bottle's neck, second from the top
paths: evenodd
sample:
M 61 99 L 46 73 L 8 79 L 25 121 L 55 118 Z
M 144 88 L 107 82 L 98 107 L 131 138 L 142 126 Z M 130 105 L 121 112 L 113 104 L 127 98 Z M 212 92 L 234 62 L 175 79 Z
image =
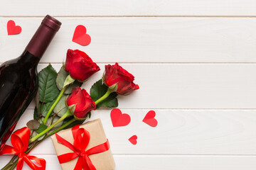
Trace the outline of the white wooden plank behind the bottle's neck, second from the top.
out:
M 9 19 L 22 26 L 20 35 L 7 35 Z M 256 18 L 58 19 L 63 26 L 41 62 L 65 61 L 68 48 L 95 62 L 256 62 Z M 0 62 L 21 55 L 41 20 L 0 18 Z M 92 37 L 86 47 L 72 42 L 79 24 Z

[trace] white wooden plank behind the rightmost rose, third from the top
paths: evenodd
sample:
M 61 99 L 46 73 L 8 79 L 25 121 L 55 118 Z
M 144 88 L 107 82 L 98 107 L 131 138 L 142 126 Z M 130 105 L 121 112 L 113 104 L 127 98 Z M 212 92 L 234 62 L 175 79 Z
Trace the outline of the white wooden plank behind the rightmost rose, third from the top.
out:
M 53 64 L 56 70 L 62 64 Z M 90 87 L 101 70 L 88 79 Z M 140 89 L 119 96 L 119 108 L 256 108 L 256 64 L 121 64 Z M 40 64 L 38 69 L 46 67 Z M 31 106 L 30 108 L 33 108 Z

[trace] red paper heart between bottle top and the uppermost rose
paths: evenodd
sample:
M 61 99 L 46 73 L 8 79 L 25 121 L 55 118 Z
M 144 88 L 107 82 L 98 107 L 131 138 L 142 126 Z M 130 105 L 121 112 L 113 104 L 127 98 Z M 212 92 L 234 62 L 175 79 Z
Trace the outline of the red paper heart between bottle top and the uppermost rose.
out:
M 86 34 L 85 26 L 79 25 L 75 28 L 72 41 L 84 46 L 90 44 L 91 38 Z

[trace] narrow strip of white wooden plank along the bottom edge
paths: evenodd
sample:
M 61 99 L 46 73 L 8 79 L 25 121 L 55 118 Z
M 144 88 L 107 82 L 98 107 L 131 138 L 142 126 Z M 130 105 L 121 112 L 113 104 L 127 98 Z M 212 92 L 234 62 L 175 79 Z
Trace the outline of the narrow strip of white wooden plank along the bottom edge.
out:
M 46 170 L 61 169 L 54 155 L 36 155 L 46 159 Z M 10 156 L 0 157 L 0 167 L 11 159 Z M 114 155 L 116 170 L 254 170 L 255 156 L 147 156 L 147 155 Z M 24 164 L 24 170 L 30 168 Z

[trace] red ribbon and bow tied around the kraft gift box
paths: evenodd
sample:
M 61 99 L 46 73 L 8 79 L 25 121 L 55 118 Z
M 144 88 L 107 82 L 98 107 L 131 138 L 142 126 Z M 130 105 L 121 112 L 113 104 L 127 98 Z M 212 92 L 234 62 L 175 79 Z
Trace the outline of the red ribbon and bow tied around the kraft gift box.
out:
M 87 147 L 90 141 L 90 132 L 88 132 L 84 128 L 79 128 L 79 125 L 75 125 L 72 128 L 72 134 L 74 138 L 73 145 L 70 144 L 70 142 L 68 142 L 67 140 L 64 140 L 58 134 L 55 134 L 58 142 L 73 150 L 73 152 L 61 154 L 58 156 L 60 164 L 69 162 L 78 157 L 78 162 L 75 165 L 74 170 L 96 170 L 95 166 L 92 164 L 92 161 L 88 156 L 90 154 L 98 154 L 107 151 L 108 149 L 110 149 L 110 143 L 107 140 L 107 142 L 101 145 L 97 145 L 96 147 L 92 147 L 91 149 L 85 151 L 85 148 Z

